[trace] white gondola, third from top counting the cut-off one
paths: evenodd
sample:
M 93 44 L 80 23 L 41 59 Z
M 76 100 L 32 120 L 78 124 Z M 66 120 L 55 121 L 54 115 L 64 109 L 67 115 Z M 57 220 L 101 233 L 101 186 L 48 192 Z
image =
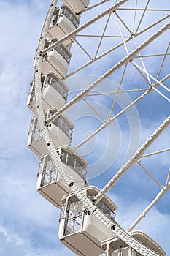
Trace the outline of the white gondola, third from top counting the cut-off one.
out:
M 45 48 L 53 45 L 57 39 L 45 42 Z M 42 74 L 46 75 L 50 72 L 55 73 L 59 79 L 66 77 L 66 72 L 69 67 L 69 62 L 72 57 L 70 51 L 63 44 L 57 45 L 52 50 L 48 51 L 42 59 Z

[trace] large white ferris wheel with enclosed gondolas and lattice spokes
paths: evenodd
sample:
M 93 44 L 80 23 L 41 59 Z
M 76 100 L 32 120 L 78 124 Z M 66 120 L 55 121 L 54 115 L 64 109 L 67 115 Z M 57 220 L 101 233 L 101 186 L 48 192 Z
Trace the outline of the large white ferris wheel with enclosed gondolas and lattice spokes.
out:
M 170 187 L 162 157 L 170 151 L 169 10 L 166 0 L 50 4 L 28 94 L 28 146 L 40 159 L 37 190 L 61 208 L 59 239 L 77 255 L 166 255 L 134 227 Z M 155 173 L 161 161 L 166 170 Z M 138 169 L 155 197 L 124 230 L 109 195 L 128 172 L 134 192 L 147 187 Z M 90 185 L 97 178 L 100 189 Z

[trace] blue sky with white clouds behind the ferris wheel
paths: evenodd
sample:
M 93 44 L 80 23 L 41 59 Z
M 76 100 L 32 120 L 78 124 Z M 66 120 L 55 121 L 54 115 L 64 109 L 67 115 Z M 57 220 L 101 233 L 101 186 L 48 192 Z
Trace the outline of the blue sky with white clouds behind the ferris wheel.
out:
M 163 1 L 165 6 L 167 2 Z M 31 117 L 31 111 L 26 106 L 26 100 L 29 83 L 34 78 L 32 66 L 35 48 L 39 41 L 39 35 L 49 4 L 50 1 L 47 0 L 18 0 L 15 3 L 14 1 L 4 0 L 0 2 L 0 255 L 2 256 L 74 255 L 58 241 L 59 210 L 50 205 L 36 192 L 36 173 L 39 163 L 38 159 L 34 157 L 26 146 L 29 118 Z M 161 43 L 158 45 L 160 46 Z M 131 45 L 129 47 L 131 48 Z M 118 56 L 115 61 L 117 60 Z M 75 61 L 75 63 L 77 62 Z M 79 75 L 86 75 L 87 80 L 93 80 L 100 73 L 106 71 L 107 66 L 112 67 L 109 59 L 103 69 L 96 69 L 94 66 L 91 69 L 90 77 L 87 76 L 89 75 L 89 69 L 86 69 L 84 73 L 80 72 Z M 152 70 L 150 72 L 154 73 L 156 65 L 152 64 L 151 66 Z M 167 63 L 167 72 L 168 67 Z M 129 67 L 129 70 L 134 72 L 134 69 L 132 70 L 131 67 Z M 118 70 L 117 74 L 118 72 L 120 71 Z M 138 83 L 139 80 L 135 77 L 135 74 L 134 79 Z M 115 75 L 114 77 L 114 83 L 117 83 L 117 76 Z M 78 78 L 79 81 L 80 78 Z M 73 78 L 73 81 L 74 79 L 77 78 Z M 125 82 L 127 86 L 132 86 L 128 77 L 125 78 Z M 71 78 L 68 83 L 70 83 L 74 94 L 77 86 L 74 87 L 72 85 Z M 107 86 L 109 86 L 109 83 L 113 82 L 107 82 Z M 82 86 L 85 85 L 83 84 Z M 140 86 L 143 86 L 143 84 L 140 84 Z M 98 87 L 96 91 L 101 91 L 101 89 Z M 72 94 L 70 94 L 70 97 L 72 97 Z M 131 98 L 133 98 L 133 95 Z M 106 105 L 104 103 L 105 99 L 104 101 L 100 99 L 97 102 L 97 99 L 93 98 L 93 105 L 96 107 L 99 104 L 96 108 L 101 111 L 102 115 L 105 115 L 106 113 L 108 114 L 109 100 L 107 99 Z M 83 110 L 86 111 L 86 108 Z M 161 97 L 158 97 L 157 94 L 152 94 L 145 101 L 139 102 L 136 108 L 134 108 L 134 112 L 135 120 L 136 122 L 139 121 L 139 129 L 142 132 L 139 132 L 134 148 L 130 148 L 131 152 L 139 145 L 139 140 L 141 144 L 161 124 L 163 119 L 168 116 L 169 104 Z M 96 169 L 101 165 L 98 161 L 102 157 L 103 165 L 101 166 L 106 169 L 104 173 L 102 173 L 102 169 L 99 176 L 91 179 L 90 184 L 103 187 L 109 178 L 112 177 L 113 173 L 123 164 L 123 161 L 125 161 L 125 154 L 128 151 L 129 143 L 131 143 L 127 138 L 134 139 L 134 136 L 131 136 L 132 129 L 134 134 L 136 134 L 136 124 L 131 123 L 131 129 L 128 127 L 128 122 L 131 121 L 131 115 L 133 116 L 134 112 L 124 115 L 124 119 L 123 117 L 119 118 L 115 124 L 112 124 L 107 130 L 101 132 L 101 135 L 94 138 L 89 145 L 93 152 L 92 157 L 90 157 L 91 155 L 88 154 L 88 151 L 83 151 L 85 157 L 90 162 L 91 169 Z M 72 110 L 70 110 L 68 116 L 71 115 L 73 120 L 74 118 L 76 119 L 74 121 L 76 127 L 80 125 L 80 121 L 82 121 L 82 124 L 83 121 L 87 121 L 87 119 L 83 119 L 87 118 L 87 113 L 83 113 L 83 116 L 82 113 L 77 112 L 77 117 L 74 117 L 72 113 Z M 90 121 L 90 118 L 93 118 L 93 121 Z M 85 132 L 93 129 L 90 124 L 98 127 L 100 123 L 98 118 L 91 112 L 88 113 L 88 121 L 89 125 Z M 128 128 L 125 129 L 126 127 Z M 77 143 L 82 138 L 80 134 L 76 141 L 75 134 L 77 130 L 78 128 L 73 135 L 74 143 Z M 116 136 L 112 134 L 111 130 L 120 135 L 120 139 L 113 146 L 111 142 L 116 140 Z M 108 137 L 108 134 L 111 137 Z M 109 152 L 106 149 L 108 148 L 108 143 Z M 119 150 L 115 151 L 115 157 L 112 158 L 114 160 L 111 161 L 113 165 L 110 167 L 106 164 L 108 162 L 107 157 L 110 152 L 117 148 L 117 145 Z M 150 151 L 168 147 L 169 129 L 161 135 Z M 111 157 L 109 155 L 108 159 Z M 166 173 L 169 169 L 169 153 L 161 154 L 159 157 L 152 157 L 152 159 L 144 159 L 143 163 L 152 170 L 156 178 L 161 179 L 163 184 L 165 183 Z M 150 182 L 142 170 L 135 165 L 116 184 L 115 188 L 109 192 L 109 196 L 117 204 L 117 222 L 125 229 L 128 228 L 157 192 L 158 187 Z M 169 227 L 170 203 L 168 192 L 158 205 L 152 208 L 152 211 L 142 220 L 137 228 L 150 234 L 166 250 L 166 255 L 169 255 Z

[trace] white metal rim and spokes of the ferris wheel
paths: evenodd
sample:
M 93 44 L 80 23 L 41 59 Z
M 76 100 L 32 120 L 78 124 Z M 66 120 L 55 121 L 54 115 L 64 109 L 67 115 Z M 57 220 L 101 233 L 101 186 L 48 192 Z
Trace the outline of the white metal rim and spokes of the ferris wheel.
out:
M 94 135 L 96 135 L 98 132 L 100 132 L 101 129 L 106 127 L 109 123 L 114 121 L 118 116 L 120 116 L 122 113 L 124 113 L 126 110 L 128 110 L 128 108 L 130 108 L 131 105 L 134 105 L 134 104 L 136 104 L 136 102 L 138 102 L 139 100 L 143 99 L 151 91 L 153 91 L 153 90 L 157 91 L 158 94 L 160 94 L 162 97 L 164 97 L 164 99 L 166 99 L 167 101 L 170 101 L 169 97 L 167 97 L 166 94 L 163 94 L 161 91 L 159 91 L 157 89 L 158 86 L 161 86 L 166 91 L 169 91 L 167 86 L 165 86 L 163 84 L 163 81 L 167 80 L 170 77 L 170 74 L 166 75 L 166 77 L 164 77 L 161 80 L 159 80 L 159 74 L 160 74 L 161 69 L 163 67 L 163 62 L 164 62 L 164 60 L 165 60 L 165 58 L 166 58 L 166 56 L 168 54 L 169 45 L 168 45 L 168 48 L 166 49 L 166 53 L 162 53 L 162 56 L 164 56 L 164 59 L 163 59 L 163 62 L 161 64 L 161 67 L 160 67 L 159 73 L 157 75 L 157 78 L 154 78 L 149 72 L 147 72 L 147 69 L 144 66 L 144 61 L 143 61 L 145 56 L 142 56 L 142 54 L 140 53 L 142 49 L 147 47 L 147 45 L 150 45 L 151 42 L 153 42 L 155 39 L 160 37 L 161 34 L 163 34 L 165 31 L 167 31 L 169 29 L 170 22 L 168 22 L 168 23 L 166 23 L 166 25 L 162 26 L 161 29 L 156 31 L 155 34 L 152 34 L 152 36 L 147 38 L 147 40 L 145 40 L 141 45 L 139 45 L 139 46 L 136 45 L 135 50 L 132 50 L 131 53 L 128 53 L 128 48 L 126 46 L 126 43 L 128 41 L 130 41 L 130 40 L 134 40 L 134 43 L 136 44 L 135 37 L 137 37 L 140 34 L 142 34 L 143 31 L 146 31 L 146 30 L 150 29 L 152 26 L 155 26 L 158 23 L 161 23 L 161 21 L 166 20 L 167 18 L 169 18 L 169 15 L 166 15 L 166 17 L 161 18 L 161 20 L 158 20 L 156 23 L 153 23 L 152 25 L 148 26 L 143 31 L 139 31 L 139 26 L 138 26 L 138 28 L 136 29 L 135 33 L 131 34 L 131 37 L 128 37 L 128 38 L 123 37 L 122 31 L 120 29 L 120 35 L 121 35 L 121 37 L 123 39 L 123 42 L 120 45 L 124 45 L 125 46 L 125 50 L 127 52 L 127 55 L 122 60 L 120 60 L 111 69 L 109 69 L 107 72 L 105 72 L 104 75 L 101 75 L 100 78 L 98 78 L 94 83 L 92 83 L 90 86 L 88 86 L 87 89 L 85 89 L 79 95 L 77 95 L 77 97 L 74 97 L 74 99 L 72 99 L 70 102 L 68 102 L 66 105 L 64 105 L 63 108 L 61 108 L 60 110 L 56 111 L 56 113 L 52 117 L 50 117 L 48 120 L 45 120 L 45 115 L 44 115 L 43 106 L 42 106 L 42 97 L 41 97 L 41 65 L 42 65 L 42 56 L 45 55 L 45 53 L 47 53 L 49 50 L 55 48 L 56 45 L 59 45 L 64 40 L 69 39 L 69 38 L 75 36 L 78 32 L 80 32 L 83 29 L 87 28 L 92 23 L 95 23 L 100 18 L 103 18 L 104 15 L 108 15 L 111 12 L 115 12 L 115 10 L 117 10 L 118 8 L 121 9 L 121 6 L 125 2 L 127 2 L 127 1 L 128 0 L 121 0 L 121 1 L 119 1 L 114 6 L 110 7 L 109 9 L 107 9 L 104 12 L 102 12 L 101 14 L 97 15 L 92 20 L 89 20 L 87 23 L 85 23 L 84 25 L 80 26 L 78 29 L 75 29 L 71 33 L 67 34 L 62 39 L 59 39 L 58 42 L 55 42 L 49 48 L 46 48 L 44 50 L 43 49 L 43 45 L 45 43 L 45 38 L 46 38 L 46 35 L 47 35 L 47 29 L 48 29 L 48 26 L 49 26 L 49 23 L 50 23 L 50 18 L 53 15 L 53 10 L 55 8 L 55 5 L 58 2 L 57 0 L 53 0 L 52 1 L 52 4 L 50 5 L 50 9 L 49 9 L 49 11 L 47 13 L 47 18 L 45 20 L 45 23 L 44 23 L 44 26 L 43 26 L 43 29 L 42 29 L 41 37 L 39 39 L 39 46 L 38 46 L 37 51 L 36 51 L 36 59 L 35 59 L 35 100 L 36 100 L 36 112 L 37 112 L 37 116 L 38 116 L 38 120 L 39 120 L 39 126 L 40 126 L 40 129 L 41 129 L 41 132 L 42 132 L 42 136 L 43 136 L 43 138 L 45 140 L 45 144 L 47 145 L 48 151 L 50 153 L 50 157 L 53 159 L 53 163 L 54 163 L 55 167 L 58 168 L 59 172 L 63 176 L 63 179 L 66 181 L 68 186 L 72 189 L 72 192 L 74 192 L 74 194 L 77 196 L 77 198 L 84 204 L 85 208 L 87 208 L 88 210 L 92 211 L 92 213 L 101 222 L 103 222 L 104 225 L 106 225 L 107 227 L 112 229 L 113 234 L 115 234 L 117 237 L 119 237 L 120 239 L 125 241 L 126 244 L 128 244 L 129 246 L 134 248 L 137 252 L 141 253 L 144 256 L 145 255 L 146 256 L 158 256 L 155 252 L 153 252 L 150 249 L 147 249 L 146 246 L 144 246 L 139 241 L 137 241 L 135 238 L 133 238 L 130 233 L 125 232 L 122 228 L 120 228 L 119 225 L 117 225 L 114 222 L 111 222 L 110 219 L 108 219 L 106 216 L 104 216 L 104 214 L 101 213 L 101 211 L 96 207 L 96 203 L 98 203 L 98 201 L 101 200 L 101 198 L 109 191 L 109 189 L 115 185 L 115 183 L 119 180 L 119 178 L 121 176 L 123 176 L 123 174 L 130 167 L 132 167 L 135 163 L 137 163 L 140 167 L 142 167 L 142 165 L 139 162 L 139 159 L 141 157 L 147 157 L 148 156 L 148 155 L 144 155 L 144 151 L 146 151 L 146 149 L 152 144 L 152 142 L 155 139 L 158 138 L 158 136 L 163 132 L 163 130 L 166 129 L 166 127 L 169 126 L 170 116 L 168 118 L 166 118 L 165 121 L 163 121 L 163 124 L 161 124 L 160 127 L 158 127 L 158 129 L 155 130 L 155 132 L 150 136 L 150 138 L 148 138 L 145 141 L 145 143 L 143 143 L 143 145 L 138 149 L 138 151 L 136 151 L 136 153 L 131 157 L 131 159 L 129 159 L 128 162 L 126 162 L 125 165 L 123 165 L 123 167 L 121 167 L 120 170 L 118 170 L 116 175 L 113 176 L 113 178 L 108 182 L 108 184 L 106 184 L 106 186 L 103 189 L 101 189 L 101 192 L 99 192 L 98 195 L 96 196 L 95 203 L 92 203 L 87 197 L 85 197 L 85 195 L 82 193 L 82 191 L 77 188 L 77 186 L 74 184 L 72 179 L 66 173 L 66 170 L 64 169 L 63 164 L 62 164 L 61 160 L 58 157 L 58 154 L 56 154 L 56 152 L 55 152 L 55 148 L 53 146 L 53 141 L 50 140 L 50 136 L 49 136 L 48 130 L 47 130 L 47 124 L 49 124 L 51 121 L 53 121 L 53 119 L 56 118 L 56 116 L 59 116 L 61 113 L 63 113 L 63 111 L 68 109 L 70 106 L 72 106 L 76 102 L 80 101 L 80 99 L 84 99 L 85 96 L 88 96 L 90 91 L 92 89 L 94 89 L 98 85 L 98 83 L 100 83 L 102 80 L 104 80 L 104 78 L 109 77 L 109 75 L 111 75 L 113 72 L 115 72 L 120 67 L 125 66 L 125 68 L 124 68 L 124 72 L 125 72 L 126 66 L 127 66 L 129 61 L 131 61 L 131 64 L 133 64 L 134 67 L 141 73 L 141 75 L 144 77 L 144 79 L 146 80 L 146 82 L 148 83 L 149 86 L 147 86 L 146 90 L 144 89 L 144 93 L 140 97 L 135 99 L 130 105 L 128 105 L 123 110 L 121 110 L 120 113 L 118 113 L 117 116 L 114 116 L 114 117 L 112 117 L 112 110 L 113 110 L 114 104 L 115 104 L 113 102 L 112 110 L 111 110 L 111 113 L 109 115 L 109 119 L 107 121 L 104 121 L 104 124 L 102 124 L 101 127 L 98 130 L 96 130 L 96 132 L 93 132 L 92 135 L 90 135 L 88 138 L 86 138 L 86 140 L 82 141 L 82 143 L 80 143 L 77 146 L 77 148 L 82 146 L 82 144 L 84 144 L 87 140 L 90 140 L 90 138 L 92 138 Z M 149 1 L 148 1 L 148 4 L 149 4 Z M 122 8 L 122 10 L 123 10 L 123 8 Z M 146 12 L 146 10 L 147 10 L 147 6 L 146 6 L 146 8 L 144 10 L 142 10 L 142 12 L 143 12 L 142 18 L 144 16 L 144 12 Z M 167 10 L 167 11 L 169 11 L 169 10 Z M 123 20 L 121 20 L 121 18 L 117 14 L 116 14 L 116 17 L 117 17 L 117 26 L 119 26 L 119 23 L 120 22 L 123 23 Z M 142 22 L 142 18 L 141 18 L 141 20 L 139 22 L 139 25 Z M 135 15 L 134 15 L 134 20 L 135 20 Z M 124 25 L 125 25 L 125 23 L 124 23 Z M 133 27 L 134 27 L 134 25 L 133 25 Z M 102 39 L 102 37 L 104 37 L 104 34 L 101 36 L 101 39 Z M 115 48 L 118 48 L 120 45 L 117 45 Z M 112 48 L 112 49 L 108 50 L 107 53 L 111 52 L 115 48 Z M 107 53 L 104 53 L 104 55 L 106 55 Z M 139 56 L 136 56 L 137 53 L 139 53 Z M 70 75 L 73 75 L 74 73 L 76 73 L 80 69 L 88 66 L 90 63 L 93 63 L 97 59 L 100 59 L 104 55 L 97 56 L 97 52 L 96 52 L 96 56 L 95 56 L 94 59 L 91 59 L 87 64 L 84 64 L 83 67 L 80 67 L 79 69 L 76 69 L 74 72 L 68 74 L 67 77 L 69 77 Z M 142 67 L 140 67 L 138 64 L 136 64 L 136 62 L 135 62 L 136 58 L 141 59 Z M 123 72 L 123 75 L 124 75 L 124 72 Z M 120 79 L 120 84 L 121 84 L 121 80 L 123 79 L 123 75 L 122 75 L 122 77 Z M 154 84 L 151 83 L 151 80 L 150 80 L 151 78 L 152 78 L 152 80 L 155 81 Z M 117 89 L 116 92 L 115 91 L 109 91 L 108 93 L 109 94 L 120 94 L 120 93 L 123 93 L 123 91 L 120 90 L 120 86 L 119 86 L 119 88 Z M 165 151 L 169 151 L 169 148 L 166 149 Z M 156 153 L 153 153 L 153 154 L 158 154 L 158 153 L 160 153 L 160 152 L 156 152 Z M 142 167 L 142 169 L 148 175 L 150 175 L 150 173 L 146 169 L 144 169 L 144 167 Z M 152 201 L 150 206 L 148 206 L 146 208 L 146 210 L 144 210 L 144 212 L 139 216 L 139 218 L 136 219 L 134 224 L 131 225 L 131 227 L 129 227 L 128 231 L 131 231 L 134 228 L 134 226 L 142 219 L 142 217 L 145 214 L 147 214 L 147 211 L 150 211 L 150 208 L 152 208 L 152 206 L 169 189 L 169 187 L 170 187 L 169 176 L 170 176 L 170 174 L 168 173 L 166 185 L 163 186 L 163 185 L 159 184 L 158 181 L 156 181 L 155 178 L 153 178 L 150 175 L 150 178 L 152 178 L 158 184 L 158 186 L 161 187 L 161 192 L 158 194 L 157 197 L 155 197 L 155 200 Z

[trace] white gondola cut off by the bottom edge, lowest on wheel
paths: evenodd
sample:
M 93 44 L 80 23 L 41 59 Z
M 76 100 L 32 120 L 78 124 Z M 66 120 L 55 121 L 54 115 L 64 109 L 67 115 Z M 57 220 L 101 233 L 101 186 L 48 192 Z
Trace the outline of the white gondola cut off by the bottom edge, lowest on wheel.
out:
M 152 249 L 155 253 L 160 256 L 165 256 L 165 252 L 150 236 L 146 233 L 135 230 L 131 231 L 131 236 L 136 238 L 142 244 L 147 246 L 149 249 Z M 119 238 L 111 238 L 107 241 L 103 241 L 101 246 L 104 248 L 104 253 L 101 256 L 142 256 L 139 252 L 136 252 L 128 244 L 125 244 Z

